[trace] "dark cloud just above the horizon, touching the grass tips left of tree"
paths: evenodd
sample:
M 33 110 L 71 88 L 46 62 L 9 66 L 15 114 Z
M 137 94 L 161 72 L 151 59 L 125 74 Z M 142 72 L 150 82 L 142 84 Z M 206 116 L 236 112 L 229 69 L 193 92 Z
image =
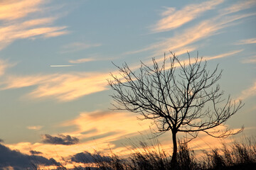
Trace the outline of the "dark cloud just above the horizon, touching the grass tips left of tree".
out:
M 110 162 L 111 158 L 98 153 L 91 154 L 90 152 L 80 152 L 71 157 L 71 161 L 80 163 Z

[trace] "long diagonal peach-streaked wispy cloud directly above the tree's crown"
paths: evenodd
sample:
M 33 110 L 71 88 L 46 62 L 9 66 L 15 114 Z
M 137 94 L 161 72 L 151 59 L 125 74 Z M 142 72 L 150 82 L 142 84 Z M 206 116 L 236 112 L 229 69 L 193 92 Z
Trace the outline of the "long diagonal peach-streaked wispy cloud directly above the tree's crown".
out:
M 171 38 L 165 38 L 159 42 L 156 42 L 148 47 L 145 47 L 141 50 L 130 51 L 124 53 L 124 55 L 135 54 L 138 52 L 144 52 L 153 50 L 152 57 L 159 56 L 159 54 L 163 54 L 163 52 L 169 52 L 169 50 L 176 51 L 186 51 L 186 48 L 191 52 L 191 49 L 196 49 L 197 46 L 203 46 L 203 44 L 196 42 L 210 38 L 213 35 L 220 33 L 220 30 L 223 28 L 228 28 L 229 26 L 234 26 L 238 24 L 242 18 L 246 18 L 249 16 L 255 16 L 256 13 L 246 13 L 242 15 L 233 15 L 233 16 L 215 16 L 214 18 L 210 18 L 209 20 L 201 21 L 196 24 L 196 26 L 191 26 L 190 28 L 186 28 L 181 30 L 181 32 L 176 33 Z

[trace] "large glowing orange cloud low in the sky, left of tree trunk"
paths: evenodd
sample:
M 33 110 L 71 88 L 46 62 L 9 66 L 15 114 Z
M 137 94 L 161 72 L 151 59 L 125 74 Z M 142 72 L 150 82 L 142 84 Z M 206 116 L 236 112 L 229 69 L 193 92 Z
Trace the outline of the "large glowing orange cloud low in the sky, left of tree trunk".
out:
M 121 155 L 130 153 L 127 147 L 116 146 L 112 141 L 125 140 L 126 137 L 139 135 L 138 131 L 149 129 L 149 120 L 139 121 L 134 113 L 117 113 L 112 111 L 93 111 L 83 112 L 73 120 L 65 121 L 59 126 L 76 125 L 78 130 L 63 135 L 78 137 L 80 142 L 76 145 L 49 145 L 41 142 L 19 142 L 13 145 L 6 145 L 11 149 L 18 149 L 25 154 L 29 151 L 36 150 L 42 152 L 44 157 L 68 159 L 70 155 L 78 152 L 94 152 L 95 150 L 102 153 L 110 154 L 112 152 Z M 56 134 L 53 134 L 56 135 Z M 54 147 L 53 147 L 54 146 Z

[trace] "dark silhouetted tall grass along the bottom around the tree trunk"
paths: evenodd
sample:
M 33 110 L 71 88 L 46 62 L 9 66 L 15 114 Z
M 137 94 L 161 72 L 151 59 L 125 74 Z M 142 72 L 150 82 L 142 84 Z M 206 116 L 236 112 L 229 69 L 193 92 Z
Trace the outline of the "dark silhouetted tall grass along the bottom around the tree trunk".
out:
M 256 142 L 254 138 L 246 142 L 233 142 L 230 145 L 223 143 L 221 148 L 203 150 L 203 156 L 196 157 L 195 152 L 188 145 L 179 143 L 176 167 L 171 167 L 171 155 L 160 147 L 152 149 L 145 142 L 140 143 L 142 149 L 133 149 L 129 157 L 122 159 L 117 154 L 104 155 L 100 152 L 90 154 L 90 163 L 87 157 L 81 166 L 74 170 L 189 170 L 189 169 L 256 169 Z M 93 160 L 92 160 L 93 159 Z M 58 170 L 66 170 L 63 164 L 55 165 Z M 39 170 L 36 166 L 33 169 Z

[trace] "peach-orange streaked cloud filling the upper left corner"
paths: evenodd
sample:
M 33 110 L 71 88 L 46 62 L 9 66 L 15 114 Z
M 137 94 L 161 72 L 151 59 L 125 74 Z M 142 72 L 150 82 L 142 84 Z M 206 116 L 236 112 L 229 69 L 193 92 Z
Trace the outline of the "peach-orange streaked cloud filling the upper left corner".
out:
M 41 4 L 46 1 L 22 0 L 22 1 L 6 1 L 0 5 L 0 50 L 18 39 L 23 38 L 50 38 L 63 34 L 67 34 L 66 26 L 50 26 L 53 25 L 58 17 L 35 17 L 26 18 L 30 13 L 43 14 Z M 37 18 L 36 18 L 37 17 Z

